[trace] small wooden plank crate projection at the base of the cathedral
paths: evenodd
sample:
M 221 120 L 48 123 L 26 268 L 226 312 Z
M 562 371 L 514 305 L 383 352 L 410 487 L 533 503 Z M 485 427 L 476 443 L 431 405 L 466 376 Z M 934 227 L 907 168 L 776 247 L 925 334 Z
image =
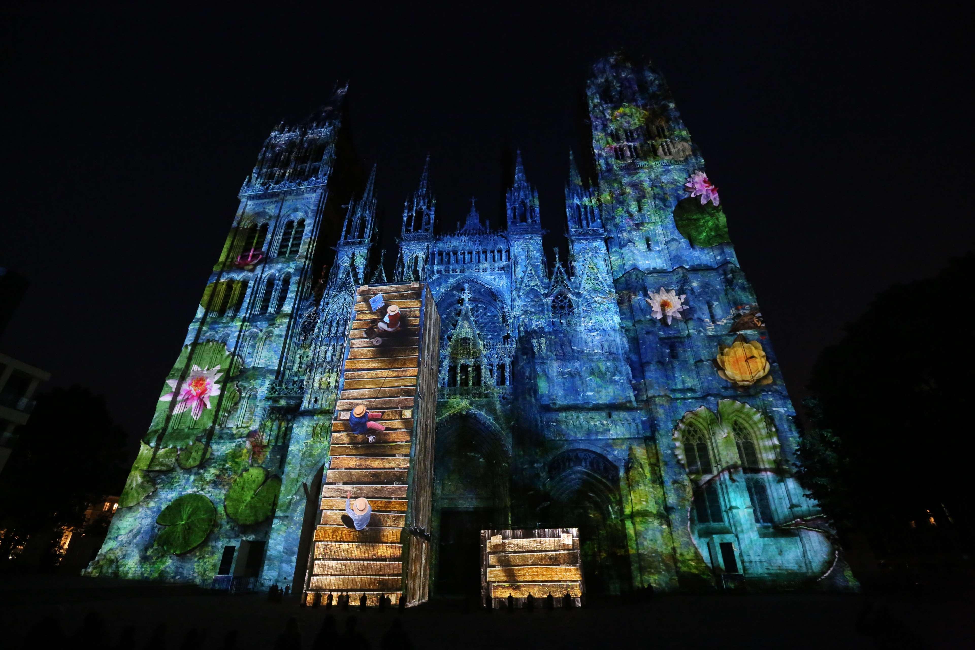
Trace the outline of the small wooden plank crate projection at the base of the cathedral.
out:
M 482 601 L 489 597 L 496 609 L 511 595 L 515 607 L 524 607 L 529 593 L 538 608 L 549 593 L 556 607 L 563 606 L 565 593 L 576 606 L 582 604 L 578 528 L 481 531 Z

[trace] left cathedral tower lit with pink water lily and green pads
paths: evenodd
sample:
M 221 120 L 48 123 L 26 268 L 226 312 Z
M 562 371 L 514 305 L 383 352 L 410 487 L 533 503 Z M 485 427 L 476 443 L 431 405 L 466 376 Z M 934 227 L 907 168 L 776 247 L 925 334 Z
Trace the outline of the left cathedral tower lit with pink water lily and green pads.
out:
M 330 363 L 349 319 L 331 323 L 329 306 L 362 281 L 374 230 L 372 179 L 358 200 L 344 189 L 356 180 L 344 96 L 265 140 L 90 575 L 209 586 L 303 573 L 303 491 L 328 455 Z M 326 286 L 322 243 L 336 240 Z

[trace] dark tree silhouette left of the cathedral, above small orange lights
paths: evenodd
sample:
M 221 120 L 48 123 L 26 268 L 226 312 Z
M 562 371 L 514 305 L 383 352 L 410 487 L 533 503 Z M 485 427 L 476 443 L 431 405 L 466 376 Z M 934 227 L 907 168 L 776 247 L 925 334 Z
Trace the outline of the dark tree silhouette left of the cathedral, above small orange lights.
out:
M 0 566 L 10 563 L 10 550 L 27 536 L 80 527 L 88 506 L 117 495 L 126 478 L 126 435 L 112 421 L 104 399 L 87 388 L 56 388 L 39 396 L 30 420 L 17 433 L 14 452 L 0 473 L 0 494 L 5 495 L 0 499 Z M 52 549 L 46 559 L 54 557 Z

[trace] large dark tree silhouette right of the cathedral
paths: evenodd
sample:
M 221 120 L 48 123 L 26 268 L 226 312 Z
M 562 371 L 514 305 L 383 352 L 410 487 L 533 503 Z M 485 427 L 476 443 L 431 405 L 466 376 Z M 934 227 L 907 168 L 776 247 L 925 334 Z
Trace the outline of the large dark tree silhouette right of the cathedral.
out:
M 966 544 L 972 510 L 959 462 L 975 451 L 968 344 L 975 254 L 881 292 L 819 357 L 800 478 L 839 524 L 875 545 L 921 525 Z M 914 522 L 914 523 L 912 523 Z

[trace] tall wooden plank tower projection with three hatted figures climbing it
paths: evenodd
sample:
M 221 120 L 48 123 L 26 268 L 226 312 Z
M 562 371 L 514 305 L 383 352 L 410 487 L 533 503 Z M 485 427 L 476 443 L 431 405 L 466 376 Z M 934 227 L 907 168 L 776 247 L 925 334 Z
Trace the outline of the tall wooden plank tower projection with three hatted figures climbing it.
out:
M 405 331 L 376 347 L 365 330 L 378 318 L 370 308 L 378 293 L 400 308 Z M 363 594 L 370 606 L 382 595 L 415 605 L 429 593 L 430 542 L 405 526 L 430 530 L 440 316 L 422 283 L 359 287 L 354 309 L 303 602 L 324 604 L 332 593 L 337 603 L 347 593 L 353 606 Z M 386 430 L 370 430 L 371 443 L 349 427 L 359 404 L 382 413 Z M 341 521 L 348 490 L 372 507 L 361 531 Z

